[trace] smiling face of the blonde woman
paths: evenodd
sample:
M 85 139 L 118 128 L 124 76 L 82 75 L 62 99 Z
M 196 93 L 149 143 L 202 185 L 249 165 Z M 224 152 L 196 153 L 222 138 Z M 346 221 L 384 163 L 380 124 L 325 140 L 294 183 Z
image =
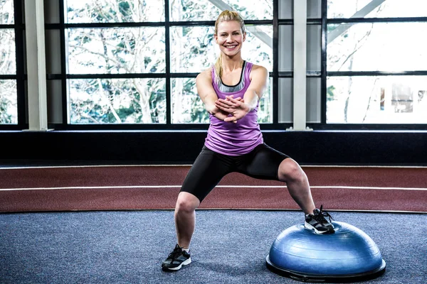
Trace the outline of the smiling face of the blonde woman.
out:
M 241 51 L 246 33 L 242 32 L 241 23 L 238 21 L 222 21 L 218 23 L 215 41 L 225 55 L 233 57 Z

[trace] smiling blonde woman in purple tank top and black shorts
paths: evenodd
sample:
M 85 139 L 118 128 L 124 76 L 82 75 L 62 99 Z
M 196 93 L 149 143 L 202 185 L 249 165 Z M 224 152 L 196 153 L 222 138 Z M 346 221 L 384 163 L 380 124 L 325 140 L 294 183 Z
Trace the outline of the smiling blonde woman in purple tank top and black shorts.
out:
M 215 41 L 221 54 L 214 67 L 196 78 L 197 92 L 209 111 L 211 124 L 204 148 L 194 161 L 175 207 L 178 244 L 163 261 L 164 271 L 177 271 L 191 263 L 189 246 L 194 233 L 195 210 L 228 173 L 286 182 L 292 198 L 305 212 L 305 226 L 316 234 L 334 232 L 327 212 L 315 208 L 307 176 L 295 160 L 263 143 L 257 122 L 258 102 L 268 71 L 241 58 L 246 40 L 243 19 L 223 11 L 215 23 Z

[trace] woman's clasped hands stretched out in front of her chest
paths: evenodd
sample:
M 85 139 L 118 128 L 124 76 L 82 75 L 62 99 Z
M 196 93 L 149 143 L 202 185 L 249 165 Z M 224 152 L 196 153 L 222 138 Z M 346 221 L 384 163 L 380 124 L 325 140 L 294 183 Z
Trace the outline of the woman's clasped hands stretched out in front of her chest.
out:
M 219 110 L 214 114 L 217 119 L 235 124 L 238 119 L 243 118 L 250 111 L 243 98 L 237 97 L 234 99 L 233 95 L 226 96 L 226 99 L 217 99 L 215 107 Z

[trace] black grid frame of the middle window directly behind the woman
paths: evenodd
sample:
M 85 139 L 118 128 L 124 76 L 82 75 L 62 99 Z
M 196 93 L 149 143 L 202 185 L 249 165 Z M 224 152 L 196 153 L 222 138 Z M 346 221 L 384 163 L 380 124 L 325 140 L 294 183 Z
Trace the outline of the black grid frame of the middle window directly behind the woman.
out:
M 215 21 L 170 21 L 169 15 L 169 0 L 164 0 L 164 22 L 140 22 L 140 23 L 65 23 L 65 6 L 64 0 L 59 0 L 60 23 L 48 23 L 46 29 L 59 29 L 61 41 L 61 74 L 48 74 L 48 80 L 61 80 L 62 83 L 62 123 L 49 124 L 49 128 L 57 130 L 162 130 L 162 131 L 176 131 L 176 130 L 206 130 L 209 124 L 172 124 L 172 79 L 174 78 L 196 78 L 198 72 L 171 72 L 171 47 L 170 47 L 170 29 L 176 26 L 209 26 L 215 25 Z M 276 16 L 274 15 L 276 13 Z M 276 63 L 278 55 L 278 0 L 273 0 L 273 20 L 251 20 L 245 21 L 246 25 L 269 25 L 273 26 L 273 72 L 270 72 L 270 77 L 273 77 L 273 98 L 274 94 L 278 93 L 278 64 Z M 165 29 L 165 71 L 163 73 L 140 73 L 140 74 L 68 74 L 66 73 L 66 54 L 65 54 L 65 31 L 68 28 L 117 28 L 117 27 L 161 27 Z M 276 42 L 276 45 L 274 44 Z M 277 66 L 275 66 L 277 65 Z M 165 124 L 68 124 L 68 98 L 67 98 L 67 80 L 70 79 L 123 79 L 123 78 L 165 78 L 166 79 L 166 123 Z M 273 99 L 273 123 L 262 124 L 263 128 L 275 129 L 277 128 L 278 121 L 277 107 L 274 107 Z

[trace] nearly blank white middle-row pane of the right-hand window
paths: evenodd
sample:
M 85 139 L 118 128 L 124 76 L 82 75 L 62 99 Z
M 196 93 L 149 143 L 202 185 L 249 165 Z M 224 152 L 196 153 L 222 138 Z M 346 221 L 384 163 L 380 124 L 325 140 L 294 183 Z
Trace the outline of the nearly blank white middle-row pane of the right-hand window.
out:
M 427 22 L 353 23 L 328 28 L 328 71 L 426 70 L 423 33 Z M 337 30 L 344 32 L 335 37 Z

